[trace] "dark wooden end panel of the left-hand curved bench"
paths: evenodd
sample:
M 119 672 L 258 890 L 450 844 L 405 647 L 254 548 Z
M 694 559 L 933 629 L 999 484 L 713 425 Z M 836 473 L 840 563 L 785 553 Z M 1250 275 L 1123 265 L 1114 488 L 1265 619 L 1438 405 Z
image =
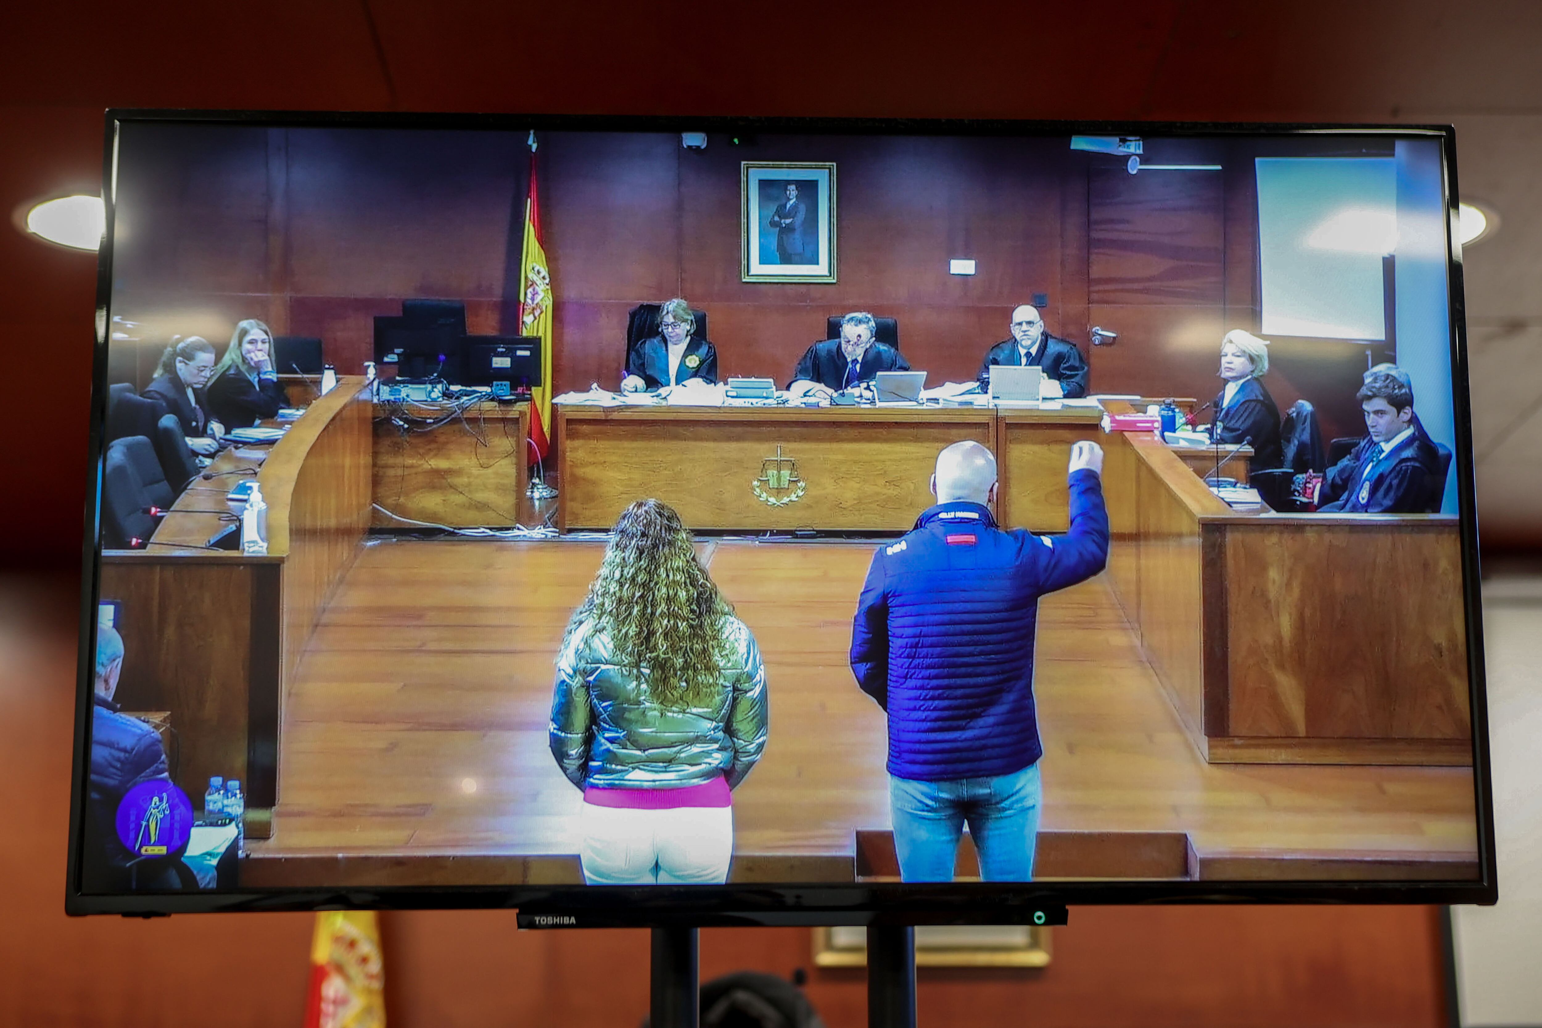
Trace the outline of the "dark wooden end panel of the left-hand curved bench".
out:
M 247 768 L 253 603 L 258 567 L 202 555 L 106 553 L 100 596 L 123 604 L 126 711 L 170 711 L 174 780 L 194 806 L 210 775 L 251 780 Z M 250 794 L 253 806 L 271 797 Z M 264 803 L 265 798 L 265 803 Z

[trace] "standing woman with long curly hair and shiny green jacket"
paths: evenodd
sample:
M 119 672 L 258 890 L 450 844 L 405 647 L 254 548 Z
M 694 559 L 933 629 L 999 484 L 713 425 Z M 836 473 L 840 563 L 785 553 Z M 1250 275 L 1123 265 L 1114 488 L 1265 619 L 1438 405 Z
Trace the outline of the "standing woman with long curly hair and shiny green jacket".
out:
M 680 515 L 628 507 L 557 657 L 550 746 L 583 789 L 589 885 L 723 883 L 729 791 L 766 744 L 766 680 Z

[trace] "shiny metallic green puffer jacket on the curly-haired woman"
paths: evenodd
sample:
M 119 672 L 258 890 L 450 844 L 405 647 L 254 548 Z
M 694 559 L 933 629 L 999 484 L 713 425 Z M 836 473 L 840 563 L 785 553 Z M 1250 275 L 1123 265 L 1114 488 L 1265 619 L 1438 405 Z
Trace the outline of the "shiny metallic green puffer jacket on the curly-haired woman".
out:
M 732 660 L 711 703 L 662 707 L 648 669 L 617 666 L 611 640 L 578 626 L 557 657 L 550 744 L 567 780 L 583 789 L 678 789 L 722 774 L 743 781 L 766 746 L 766 672 L 745 623 L 723 618 Z

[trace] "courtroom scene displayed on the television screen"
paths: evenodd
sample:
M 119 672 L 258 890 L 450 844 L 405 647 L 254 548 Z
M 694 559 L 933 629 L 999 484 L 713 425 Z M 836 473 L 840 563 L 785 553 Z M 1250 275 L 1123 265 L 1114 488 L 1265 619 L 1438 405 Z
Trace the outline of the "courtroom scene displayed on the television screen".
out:
M 116 146 L 82 891 L 1479 879 L 1437 133 Z

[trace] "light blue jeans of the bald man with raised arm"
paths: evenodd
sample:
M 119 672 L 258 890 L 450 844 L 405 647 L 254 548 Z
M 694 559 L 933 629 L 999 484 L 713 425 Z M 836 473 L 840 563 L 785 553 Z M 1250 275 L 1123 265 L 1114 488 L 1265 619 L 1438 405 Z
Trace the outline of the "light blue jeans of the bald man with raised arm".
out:
M 951 882 L 959 835 L 968 821 L 981 879 L 1032 882 L 1042 798 L 1036 763 L 995 778 L 913 781 L 890 775 L 899 877 Z

